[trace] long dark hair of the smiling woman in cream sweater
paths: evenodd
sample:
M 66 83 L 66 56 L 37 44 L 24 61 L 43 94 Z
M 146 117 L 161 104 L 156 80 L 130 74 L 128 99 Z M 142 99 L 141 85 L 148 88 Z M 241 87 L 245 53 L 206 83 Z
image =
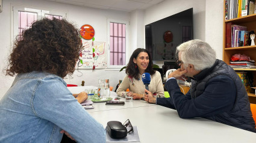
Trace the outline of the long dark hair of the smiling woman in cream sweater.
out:
M 137 68 L 135 68 L 135 63 L 133 62 L 133 58 L 137 58 L 137 56 L 139 55 L 140 52 L 146 52 L 148 53 L 148 58 L 149 58 L 149 63 L 148 63 L 148 67 L 146 68 L 145 72 L 146 73 L 149 73 L 150 75 L 154 75 L 155 71 L 153 69 L 153 62 L 152 62 L 152 58 L 151 58 L 151 55 L 150 53 L 148 52 L 148 50 L 146 49 L 142 49 L 142 48 L 138 48 L 136 50 L 134 50 L 133 54 L 131 55 L 131 58 L 128 62 L 128 65 L 127 67 L 125 68 L 125 73 L 127 75 L 129 75 L 131 78 L 134 78 L 134 79 L 140 79 L 140 71 Z

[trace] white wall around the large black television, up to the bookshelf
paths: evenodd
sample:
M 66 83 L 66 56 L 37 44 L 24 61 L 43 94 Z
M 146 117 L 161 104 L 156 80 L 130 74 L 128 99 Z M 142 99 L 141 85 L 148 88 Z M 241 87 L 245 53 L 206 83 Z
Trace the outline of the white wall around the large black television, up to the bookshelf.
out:
M 144 24 L 155 22 L 193 7 L 194 39 L 207 41 L 222 59 L 223 0 L 166 0 L 145 10 Z M 175 35 L 173 35 L 175 36 Z M 163 65 L 163 61 L 154 61 Z

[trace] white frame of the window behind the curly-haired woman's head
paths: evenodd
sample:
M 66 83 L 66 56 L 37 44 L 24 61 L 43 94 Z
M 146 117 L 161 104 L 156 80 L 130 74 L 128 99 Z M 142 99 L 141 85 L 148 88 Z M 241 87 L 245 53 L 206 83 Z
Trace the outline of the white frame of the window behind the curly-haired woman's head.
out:
M 45 14 L 51 14 L 51 15 L 57 15 L 62 16 L 63 19 L 68 19 L 68 13 L 67 11 L 60 11 L 60 10 L 49 10 L 46 8 L 39 8 L 39 7 L 31 7 L 31 6 L 25 6 L 25 5 L 11 5 L 11 41 L 10 46 L 11 49 L 13 48 L 13 44 L 16 40 L 17 35 L 19 34 L 19 15 L 18 11 L 24 11 L 24 12 L 31 12 L 31 13 L 37 13 L 37 20 L 42 19 L 45 17 Z

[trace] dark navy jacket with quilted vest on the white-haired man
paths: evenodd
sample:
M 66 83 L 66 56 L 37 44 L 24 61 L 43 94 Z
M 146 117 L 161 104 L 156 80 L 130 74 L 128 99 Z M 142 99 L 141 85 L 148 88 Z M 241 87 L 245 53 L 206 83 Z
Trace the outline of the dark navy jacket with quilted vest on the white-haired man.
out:
M 216 59 L 194 78 L 186 96 L 176 79 L 169 79 L 165 87 L 170 98 L 157 98 L 157 105 L 176 109 L 181 118 L 204 117 L 256 132 L 245 86 L 233 68 Z

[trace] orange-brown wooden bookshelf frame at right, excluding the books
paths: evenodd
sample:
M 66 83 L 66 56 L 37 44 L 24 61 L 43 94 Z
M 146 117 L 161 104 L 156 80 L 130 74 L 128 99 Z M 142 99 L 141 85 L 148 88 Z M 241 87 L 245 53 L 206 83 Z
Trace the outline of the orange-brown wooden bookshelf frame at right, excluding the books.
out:
M 250 56 L 256 61 L 256 46 L 226 47 L 226 23 L 232 25 L 246 26 L 248 31 L 256 32 L 256 14 L 225 20 L 225 0 L 223 0 L 223 61 L 229 65 L 229 60 L 235 53 L 241 53 Z M 255 38 L 256 39 L 256 38 Z M 249 43 L 251 44 L 251 43 Z M 256 68 L 234 68 L 236 71 L 248 71 L 254 76 L 254 85 L 256 85 Z M 248 93 L 250 103 L 256 103 L 255 91 Z

